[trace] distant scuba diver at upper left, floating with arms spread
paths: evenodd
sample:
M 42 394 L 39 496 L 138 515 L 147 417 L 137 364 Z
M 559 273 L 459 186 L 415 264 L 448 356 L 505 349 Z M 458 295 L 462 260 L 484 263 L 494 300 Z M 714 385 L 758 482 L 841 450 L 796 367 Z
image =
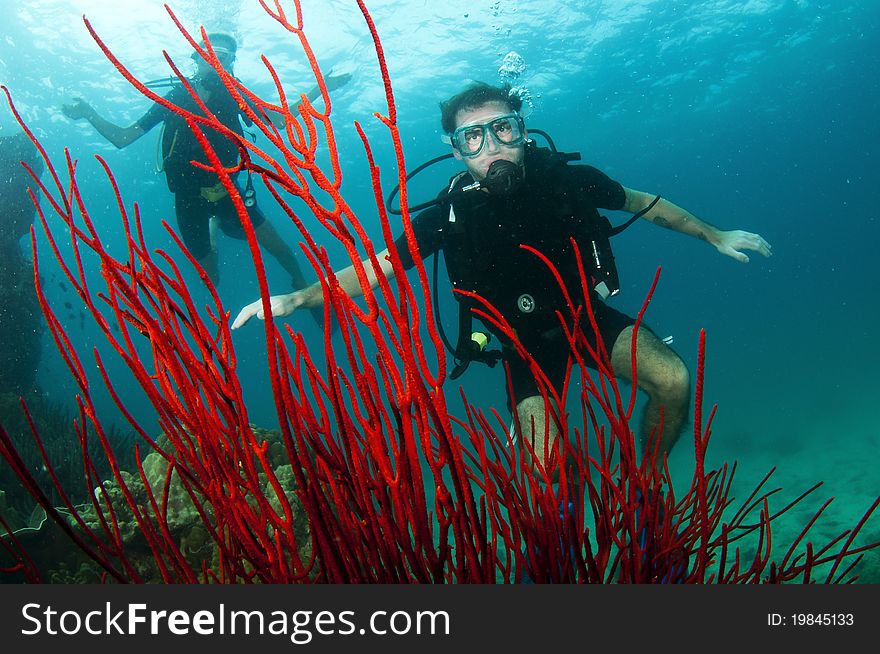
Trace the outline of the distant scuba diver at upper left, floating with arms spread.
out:
M 226 33 L 216 32 L 208 34 L 208 41 L 221 65 L 231 73 L 238 49 L 235 38 Z M 202 46 L 204 47 L 204 43 Z M 193 53 L 192 58 L 196 62 L 197 73 L 191 81 L 199 98 L 223 125 L 237 134 L 243 135 L 239 118 L 246 125 L 251 125 L 251 121 L 241 112 L 236 101 L 223 85 L 222 79 L 211 65 L 197 52 Z M 347 83 L 350 77 L 348 74 L 328 76 L 326 78 L 327 89 L 339 88 Z M 171 86 L 171 91 L 165 96 L 169 102 L 193 113 L 200 112 L 196 101 L 179 80 L 174 78 L 166 81 L 157 80 L 147 85 L 152 87 Z M 310 101 L 319 96 L 320 89 L 317 86 L 306 94 Z M 134 124 L 129 127 L 120 127 L 100 116 L 81 98 L 75 99 L 72 104 L 64 105 L 62 111 L 72 120 L 87 120 L 98 133 L 117 148 L 126 147 L 159 123 L 163 124 L 161 136 L 162 169 L 165 172 L 168 189 L 174 194 L 180 236 L 190 253 L 208 273 L 211 281 L 218 285 L 220 274 L 217 265 L 217 251 L 214 246 L 213 228 L 219 226 L 227 236 L 240 240 L 245 239 L 245 232 L 235 206 L 223 184 L 217 179 L 217 174 L 212 170 L 203 170 L 192 165 L 193 160 L 207 163 L 207 159 L 185 120 L 162 105 L 154 104 Z M 273 117 L 275 116 L 279 120 L 281 119 L 280 114 L 273 115 Z M 238 162 L 239 156 L 235 143 L 215 130 L 203 129 L 211 146 L 217 152 L 221 164 L 234 166 Z M 244 190 L 235 179 L 232 181 L 242 194 L 260 246 L 268 250 L 287 271 L 291 277 L 293 288 L 303 288 L 306 285 L 306 280 L 293 251 L 281 239 L 257 205 L 250 175 L 248 175 Z M 212 218 L 216 222 L 212 223 Z

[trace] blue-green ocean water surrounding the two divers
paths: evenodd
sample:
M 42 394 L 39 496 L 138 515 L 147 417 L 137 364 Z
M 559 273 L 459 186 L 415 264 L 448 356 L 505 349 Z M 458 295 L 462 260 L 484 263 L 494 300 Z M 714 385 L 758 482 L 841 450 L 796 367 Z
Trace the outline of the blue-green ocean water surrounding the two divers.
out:
M 382 0 L 367 6 L 388 61 L 408 165 L 444 151 L 438 102 L 472 79 L 499 81 L 505 56 L 515 52 L 525 63 L 515 83 L 531 98 L 528 125 L 625 186 L 661 193 L 707 222 L 758 232 L 773 245 L 772 258 L 756 254 L 741 265 L 704 243 L 639 224 L 615 241 L 622 293 L 614 305 L 637 311 L 662 267 L 646 320 L 674 337 L 692 370 L 699 330 L 707 332 L 706 405 L 718 405 L 711 457 L 740 461 L 746 479 L 779 464 L 779 483 L 792 490 L 824 480 L 826 494 L 840 499 L 837 510 L 860 514 L 880 493 L 874 373 L 880 305 L 872 264 L 880 241 L 874 210 L 880 5 Z M 260 54 L 278 68 L 289 92 L 313 83 L 296 44 L 258 3 L 172 7 L 188 27 L 239 35 L 235 72 L 258 92 L 271 89 Z M 353 75 L 333 95 L 344 188 L 379 238 L 353 127 L 364 126 L 392 184 L 391 150 L 372 116 L 387 111 L 373 45 L 353 2 L 309 0 L 303 7 L 322 66 Z M 149 106 L 95 46 L 82 14 L 141 79 L 168 74 L 163 49 L 188 62 L 187 45 L 161 2 L 28 0 L 7 12 L 0 82 L 57 163 L 65 147 L 80 160 L 83 190 L 111 250 L 121 250 L 123 241 L 96 153 L 111 165 L 126 199 L 140 203 L 148 239 L 171 250 L 160 225 L 162 219 L 173 224 L 173 207 L 155 171 L 156 134 L 116 151 L 60 112 L 62 103 L 82 96 L 129 124 Z M 13 129 L 5 108 L 0 125 L 2 134 Z M 413 197 L 433 196 L 453 170 L 420 176 Z M 296 240 L 279 213 L 270 219 Z M 44 238 L 39 248 L 52 274 Z M 242 244 L 223 239 L 220 248 L 220 290 L 234 314 L 256 298 L 256 282 Z M 331 254 L 346 264 L 338 248 Z M 273 266 L 270 282 L 283 288 L 286 277 Z M 48 288 L 54 302 L 66 301 L 60 286 Z M 454 324 L 451 308 L 446 315 Z M 302 329 L 320 345 L 316 327 Z M 94 328 L 75 317 L 70 334 L 83 351 L 98 344 Z M 262 332 L 242 331 L 236 339 L 252 420 L 272 426 Z M 75 387 L 48 342 L 39 374 L 54 399 L 72 403 Z M 473 370 L 464 384 L 471 401 L 503 408 L 497 371 Z M 146 404 L 133 399 L 133 406 L 149 415 Z M 688 438 L 673 454 L 682 469 L 691 462 Z

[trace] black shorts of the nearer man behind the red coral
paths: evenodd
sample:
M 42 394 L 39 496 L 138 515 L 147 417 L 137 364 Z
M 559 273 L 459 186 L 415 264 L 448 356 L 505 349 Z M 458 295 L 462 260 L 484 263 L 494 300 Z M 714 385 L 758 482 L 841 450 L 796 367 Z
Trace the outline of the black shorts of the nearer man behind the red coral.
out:
M 596 316 L 596 325 L 599 327 L 599 336 L 602 338 L 605 350 L 610 357 L 611 349 L 614 347 L 617 337 L 620 336 L 624 329 L 635 324 L 635 318 L 631 318 L 617 309 L 612 309 L 600 300 L 593 301 L 593 312 Z M 642 323 L 639 329 L 648 329 L 648 327 Z M 586 321 L 586 326 L 583 327 L 583 330 L 587 337 L 587 342 L 595 349 L 596 334 L 593 332 L 589 321 Z M 526 346 L 529 353 L 535 358 L 538 365 L 541 366 L 553 388 L 561 393 L 565 383 L 565 368 L 570 352 L 562 330 L 554 330 L 550 336 L 532 339 L 529 342 L 524 342 L 523 345 Z M 515 398 L 516 403 L 519 404 L 527 397 L 540 395 L 541 393 L 538 390 L 535 377 L 529 370 L 525 360 L 513 350 L 505 348 L 505 353 L 507 355 L 505 360 L 510 367 L 507 408 L 512 409 L 511 398 Z M 595 361 L 592 361 L 589 355 L 584 357 L 584 363 L 593 370 L 597 369 Z

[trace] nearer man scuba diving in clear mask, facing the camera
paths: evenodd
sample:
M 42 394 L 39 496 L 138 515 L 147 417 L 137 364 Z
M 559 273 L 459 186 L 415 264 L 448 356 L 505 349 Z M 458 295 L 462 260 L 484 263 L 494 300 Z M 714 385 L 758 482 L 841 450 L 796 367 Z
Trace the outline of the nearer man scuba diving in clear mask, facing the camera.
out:
M 770 246 L 757 234 L 722 231 L 668 200 L 626 188 L 592 166 L 571 164 L 570 160 L 579 155 L 566 156 L 537 147 L 529 139 L 519 113 L 522 100 L 509 91 L 508 87 L 480 82 L 441 104 L 441 123 L 451 154 L 466 170 L 444 187 L 436 201 L 426 203 L 430 206 L 412 221 L 418 255 L 425 259 L 442 250 L 452 286 L 473 291 L 494 305 L 561 394 L 570 348 L 557 311 L 568 316 L 568 304 L 546 264 L 520 245 L 535 248 L 553 262 L 565 287 L 576 295 L 581 278 L 571 245 L 574 238 L 585 266 L 592 264 L 592 307 L 613 372 L 632 381 L 635 320 L 603 301 L 618 288 L 607 247 L 611 230 L 599 209 L 629 212 L 633 220 L 642 217 L 654 225 L 693 236 L 740 262 L 749 260 L 742 250 L 770 256 Z M 405 236 L 399 237 L 394 246 L 405 269 L 415 265 Z M 390 279 L 394 271 L 388 250 L 379 253 L 377 259 L 382 273 Z M 363 269 L 375 287 L 376 272 L 368 260 L 363 262 Z M 364 292 L 353 266 L 336 276 L 349 296 Z M 495 334 L 503 347 L 494 357 L 483 355 L 485 339 L 468 343 L 472 334 L 468 327 L 470 311 L 463 306 L 466 299 L 455 295 L 463 316 L 454 348 L 456 359 L 460 363 L 482 360 L 490 365 L 492 358 L 505 360 L 510 370 L 508 398 L 514 415 L 514 436 L 528 439 L 535 456 L 546 464 L 545 452 L 552 451 L 559 435 L 559 407 L 551 406 L 548 416 L 533 373 L 504 342 L 502 333 Z M 270 300 L 274 316 L 288 316 L 322 303 L 319 284 Z M 264 318 L 259 300 L 241 310 L 232 328 L 240 328 L 254 316 Z M 594 330 L 586 318 L 581 318 L 579 328 L 595 348 Z M 644 325 L 637 338 L 637 383 L 649 396 L 641 426 L 642 444 L 647 447 L 652 431 L 662 426 L 657 453 L 657 465 L 662 466 L 664 455 L 675 444 L 687 418 L 689 373 L 682 359 Z M 589 356 L 585 359 L 588 365 L 592 363 Z

